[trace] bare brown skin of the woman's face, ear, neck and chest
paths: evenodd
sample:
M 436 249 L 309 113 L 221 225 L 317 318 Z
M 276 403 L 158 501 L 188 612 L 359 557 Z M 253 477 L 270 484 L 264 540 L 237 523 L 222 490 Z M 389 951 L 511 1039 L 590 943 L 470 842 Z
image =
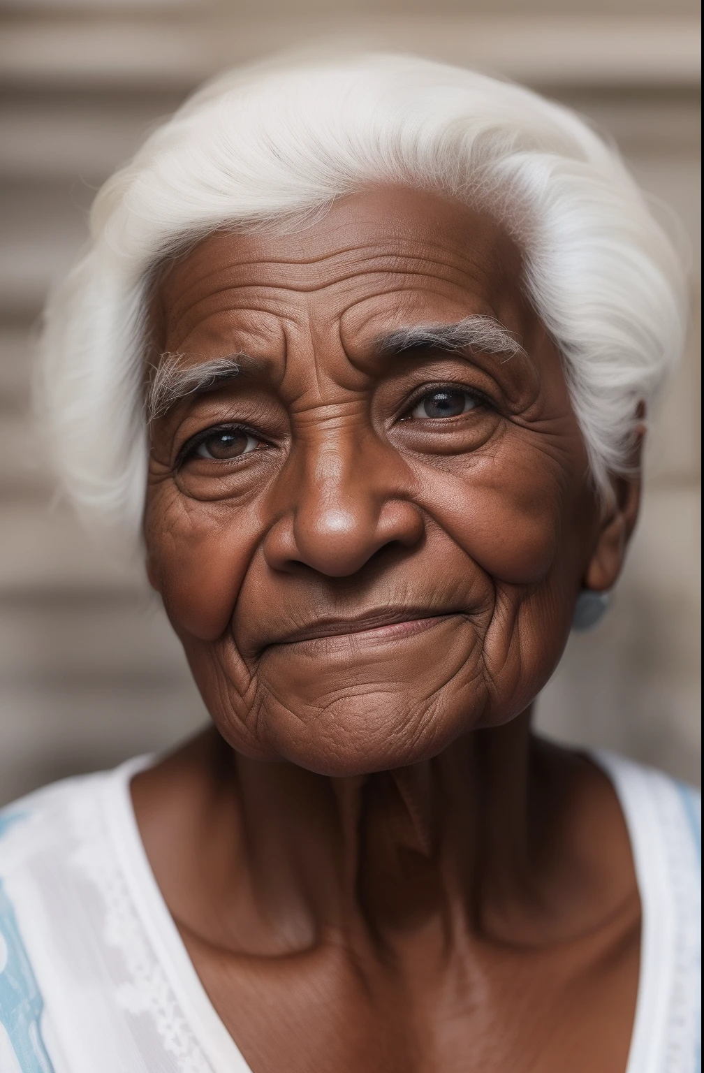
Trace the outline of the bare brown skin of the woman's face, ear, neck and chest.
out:
M 380 353 L 478 313 L 527 355 Z M 529 723 L 580 589 L 618 576 L 639 481 L 599 509 L 517 249 L 369 190 L 297 234 L 200 242 L 153 326 L 188 364 L 252 358 L 152 426 L 149 577 L 215 727 L 132 784 L 245 1058 L 621 1073 L 628 835 L 606 778 Z M 466 412 L 428 417 L 442 388 Z

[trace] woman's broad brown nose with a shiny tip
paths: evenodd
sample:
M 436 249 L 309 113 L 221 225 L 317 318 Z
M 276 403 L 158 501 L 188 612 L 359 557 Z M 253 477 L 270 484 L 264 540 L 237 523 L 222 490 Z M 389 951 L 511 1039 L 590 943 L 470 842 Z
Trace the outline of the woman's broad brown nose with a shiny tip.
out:
M 273 569 L 304 564 L 349 577 L 381 548 L 421 541 L 425 524 L 408 498 L 406 467 L 373 433 L 307 443 L 295 454 L 279 477 L 288 510 L 264 542 Z

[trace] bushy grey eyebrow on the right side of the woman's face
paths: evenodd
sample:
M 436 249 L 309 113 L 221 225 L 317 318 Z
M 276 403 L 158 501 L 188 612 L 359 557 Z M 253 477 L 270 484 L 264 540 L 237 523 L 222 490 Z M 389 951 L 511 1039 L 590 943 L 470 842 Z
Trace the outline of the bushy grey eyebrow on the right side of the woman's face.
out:
M 502 354 L 504 359 L 525 354 L 516 337 L 493 317 L 466 317 L 456 324 L 421 324 L 398 328 L 377 339 L 382 354 L 404 354 L 410 350 L 465 350 Z

